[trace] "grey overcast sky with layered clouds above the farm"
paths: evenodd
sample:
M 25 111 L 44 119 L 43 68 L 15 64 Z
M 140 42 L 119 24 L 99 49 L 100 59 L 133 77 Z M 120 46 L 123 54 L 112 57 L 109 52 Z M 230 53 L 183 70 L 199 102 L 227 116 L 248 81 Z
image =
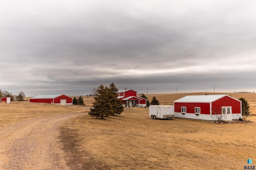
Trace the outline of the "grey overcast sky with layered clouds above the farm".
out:
M 0 0 L 0 89 L 256 92 L 256 1 Z

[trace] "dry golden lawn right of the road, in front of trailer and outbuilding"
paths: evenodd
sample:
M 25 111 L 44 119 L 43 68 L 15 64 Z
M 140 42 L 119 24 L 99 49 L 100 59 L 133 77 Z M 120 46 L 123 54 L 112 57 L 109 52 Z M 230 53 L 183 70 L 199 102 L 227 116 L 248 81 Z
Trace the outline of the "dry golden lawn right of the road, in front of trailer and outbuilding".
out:
M 237 170 L 249 157 L 256 160 L 254 122 L 153 120 L 148 108 L 125 108 L 122 115 L 106 119 L 72 118 L 61 128 L 76 131 L 71 146 L 80 164 L 92 160 L 85 165 L 89 169 Z

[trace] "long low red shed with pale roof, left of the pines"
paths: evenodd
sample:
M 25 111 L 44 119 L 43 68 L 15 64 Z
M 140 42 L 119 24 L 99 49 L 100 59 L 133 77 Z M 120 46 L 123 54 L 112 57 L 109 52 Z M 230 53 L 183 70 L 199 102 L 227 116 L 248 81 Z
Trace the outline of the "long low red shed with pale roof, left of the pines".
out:
M 60 105 L 72 105 L 73 99 L 64 95 L 39 95 L 29 99 L 29 102 L 36 103 L 50 103 L 50 104 L 60 104 Z

